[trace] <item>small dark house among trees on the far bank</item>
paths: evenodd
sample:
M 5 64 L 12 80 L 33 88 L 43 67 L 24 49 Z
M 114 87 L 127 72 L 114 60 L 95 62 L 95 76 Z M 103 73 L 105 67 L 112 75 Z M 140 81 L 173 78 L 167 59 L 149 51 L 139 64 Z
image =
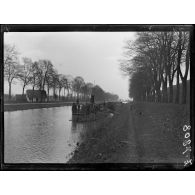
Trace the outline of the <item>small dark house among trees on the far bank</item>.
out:
M 26 90 L 28 102 L 46 102 L 47 95 L 45 90 Z

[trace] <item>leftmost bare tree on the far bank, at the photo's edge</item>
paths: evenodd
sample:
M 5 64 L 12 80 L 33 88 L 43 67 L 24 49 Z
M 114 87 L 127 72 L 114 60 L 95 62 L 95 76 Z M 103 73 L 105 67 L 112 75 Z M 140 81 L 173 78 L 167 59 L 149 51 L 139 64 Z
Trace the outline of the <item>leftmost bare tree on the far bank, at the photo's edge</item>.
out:
M 14 79 L 18 78 L 20 66 L 18 60 L 18 52 L 15 46 L 4 45 L 4 76 L 9 85 L 9 100 L 11 100 L 11 87 Z

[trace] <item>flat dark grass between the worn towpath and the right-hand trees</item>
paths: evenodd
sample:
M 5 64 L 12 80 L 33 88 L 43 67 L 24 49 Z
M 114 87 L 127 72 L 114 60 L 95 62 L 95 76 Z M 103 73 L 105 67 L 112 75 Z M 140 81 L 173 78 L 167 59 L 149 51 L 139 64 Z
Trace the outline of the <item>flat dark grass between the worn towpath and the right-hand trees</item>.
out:
M 132 116 L 139 162 L 184 163 L 183 126 L 190 124 L 189 105 L 137 103 Z

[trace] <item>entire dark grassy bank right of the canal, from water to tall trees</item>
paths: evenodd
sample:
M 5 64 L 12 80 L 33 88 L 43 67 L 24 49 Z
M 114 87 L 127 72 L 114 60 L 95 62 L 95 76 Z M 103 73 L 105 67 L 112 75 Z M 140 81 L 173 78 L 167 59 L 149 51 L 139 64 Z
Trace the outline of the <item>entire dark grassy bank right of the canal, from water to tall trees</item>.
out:
M 183 163 L 183 125 L 189 107 L 134 103 L 89 129 L 69 163 Z

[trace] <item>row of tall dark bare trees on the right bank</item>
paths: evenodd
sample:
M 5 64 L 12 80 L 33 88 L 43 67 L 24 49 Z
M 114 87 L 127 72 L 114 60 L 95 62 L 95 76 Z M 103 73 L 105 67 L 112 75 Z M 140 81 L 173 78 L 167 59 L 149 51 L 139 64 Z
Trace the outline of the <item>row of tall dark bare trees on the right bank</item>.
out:
M 139 32 L 135 41 L 126 41 L 120 68 L 129 76 L 130 97 L 137 101 L 179 103 L 182 83 L 181 102 L 185 104 L 189 39 L 187 31 Z M 176 94 L 173 95 L 174 83 Z

